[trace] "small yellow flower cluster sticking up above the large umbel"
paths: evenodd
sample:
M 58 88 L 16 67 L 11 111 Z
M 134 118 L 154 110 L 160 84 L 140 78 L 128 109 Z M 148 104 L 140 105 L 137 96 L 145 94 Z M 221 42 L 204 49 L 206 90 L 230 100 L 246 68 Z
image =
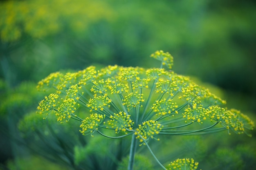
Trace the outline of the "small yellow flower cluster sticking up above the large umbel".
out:
M 166 65 L 169 69 L 173 66 L 173 56 L 171 54 L 164 53 L 164 51 L 156 51 L 155 53 L 151 54 L 150 57 L 153 57 L 157 60 L 162 62 L 162 65 Z

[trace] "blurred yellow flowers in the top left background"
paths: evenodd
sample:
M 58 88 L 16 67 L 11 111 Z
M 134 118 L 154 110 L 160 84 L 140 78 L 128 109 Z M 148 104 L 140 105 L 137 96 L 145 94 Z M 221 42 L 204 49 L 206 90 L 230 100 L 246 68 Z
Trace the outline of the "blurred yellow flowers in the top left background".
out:
M 27 34 L 41 39 L 65 29 L 81 35 L 93 22 L 112 15 L 109 5 L 97 0 L 9 0 L 0 2 L 0 38 L 14 42 Z

